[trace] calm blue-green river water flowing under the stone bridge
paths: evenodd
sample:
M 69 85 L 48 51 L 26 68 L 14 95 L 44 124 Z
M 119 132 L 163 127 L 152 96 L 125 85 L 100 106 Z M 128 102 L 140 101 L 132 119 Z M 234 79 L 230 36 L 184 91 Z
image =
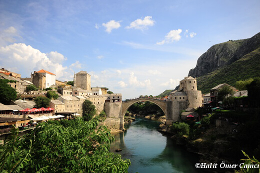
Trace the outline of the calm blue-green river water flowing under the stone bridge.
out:
M 137 117 L 126 131 L 115 134 L 110 151 L 130 159 L 128 172 L 199 172 L 195 168 L 198 157 L 158 132 L 159 124 Z M 116 148 L 122 151 L 115 152 Z

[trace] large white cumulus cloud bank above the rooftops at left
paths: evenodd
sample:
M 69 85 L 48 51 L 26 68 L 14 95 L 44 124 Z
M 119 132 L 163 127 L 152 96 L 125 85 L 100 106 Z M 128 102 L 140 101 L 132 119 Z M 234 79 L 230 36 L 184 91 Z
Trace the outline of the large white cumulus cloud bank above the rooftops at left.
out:
M 51 54 L 52 58 L 54 55 L 59 58 L 63 56 L 57 52 L 47 54 Z M 24 72 L 27 75 L 26 77 L 29 77 L 34 70 L 46 69 L 56 74 L 56 78 L 64 78 L 67 67 L 52 61 L 47 54 L 24 43 L 14 43 L 0 47 L 1 65 L 6 69 L 11 69 L 15 63 L 18 70 L 14 72 Z

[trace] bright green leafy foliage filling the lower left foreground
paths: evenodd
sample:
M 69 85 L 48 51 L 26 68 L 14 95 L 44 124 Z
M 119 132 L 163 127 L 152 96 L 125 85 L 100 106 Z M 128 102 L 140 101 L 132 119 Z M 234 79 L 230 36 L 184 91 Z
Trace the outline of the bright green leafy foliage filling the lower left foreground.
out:
M 109 152 L 114 139 L 98 118 L 38 124 L 29 133 L 0 145 L 0 172 L 127 172 L 130 160 Z M 100 144 L 101 143 L 101 144 Z

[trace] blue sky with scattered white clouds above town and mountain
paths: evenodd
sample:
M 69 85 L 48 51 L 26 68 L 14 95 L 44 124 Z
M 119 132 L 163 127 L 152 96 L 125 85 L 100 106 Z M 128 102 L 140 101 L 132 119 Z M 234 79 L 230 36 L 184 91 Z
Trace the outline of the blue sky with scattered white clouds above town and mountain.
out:
M 1 0 L 0 67 L 91 74 L 123 98 L 173 89 L 210 46 L 260 31 L 259 0 Z

